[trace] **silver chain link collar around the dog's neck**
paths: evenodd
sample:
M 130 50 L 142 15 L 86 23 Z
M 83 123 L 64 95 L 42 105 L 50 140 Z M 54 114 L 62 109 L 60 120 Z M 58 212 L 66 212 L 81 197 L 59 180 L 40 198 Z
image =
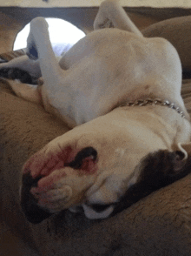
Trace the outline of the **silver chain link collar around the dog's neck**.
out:
M 128 103 L 120 104 L 119 107 L 122 106 L 145 106 L 145 105 L 163 105 L 168 106 L 168 108 L 175 110 L 177 113 L 181 115 L 181 118 L 186 118 L 183 111 L 179 106 L 176 106 L 175 103 L 171 103 L 168 100 L 161 100 L 160 98 L 146 98 L 146 99 L 137 99 L 134 102 L 130 101 Z

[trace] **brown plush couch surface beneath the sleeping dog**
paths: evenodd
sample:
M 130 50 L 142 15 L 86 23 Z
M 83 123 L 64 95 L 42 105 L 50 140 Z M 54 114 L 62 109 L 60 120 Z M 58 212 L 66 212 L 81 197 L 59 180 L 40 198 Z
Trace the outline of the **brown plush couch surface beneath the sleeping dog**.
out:
M 187 51 L 191 45 L 191 30 L 187 30 L 191 21 L 189 17 L 185 18 L 186 25 L 180 30 L 181 22 L 178 19 L 171 21 L 171 25 L 166 26 L 169 30 L 165 35 L 174 40 L 175 34 L 181 33 L 180 41 L 175 40 L 175 44 L 180 49 L 181 45 L 185 47 L 184 54 L 180 53 L 183 63 L 191 54 Z M 144 34 L 157 36 L 164 25 L 155 24 Z M 185 38 L 188 45 L 185 45 Z M 191 57 L 186 63 L 191 65 Z M 191 113 L 191 81 L 183 81 L 182 95 Z M 9 84 L 1 81 L 0 255 L 190 256 L 191 175 L 109 219 L 93 221 L 80 213 L 66 211 L 38 225 L 27 222 L 19 205 L 22 165 L 43 145 L 68 130 L 42 107 L 17 98 Z

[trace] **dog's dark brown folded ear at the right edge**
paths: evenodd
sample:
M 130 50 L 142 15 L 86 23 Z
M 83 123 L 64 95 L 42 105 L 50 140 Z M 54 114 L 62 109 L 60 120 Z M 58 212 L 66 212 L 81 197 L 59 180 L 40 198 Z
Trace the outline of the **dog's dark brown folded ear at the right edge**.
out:
M 148 154 L 142 160 L 142 170 L 137 183 L 151 186 L 153 191 L 185 177 L 191 172 L 191 158 L 188 152 L 178 145 L 177 150 L 161 150 Z

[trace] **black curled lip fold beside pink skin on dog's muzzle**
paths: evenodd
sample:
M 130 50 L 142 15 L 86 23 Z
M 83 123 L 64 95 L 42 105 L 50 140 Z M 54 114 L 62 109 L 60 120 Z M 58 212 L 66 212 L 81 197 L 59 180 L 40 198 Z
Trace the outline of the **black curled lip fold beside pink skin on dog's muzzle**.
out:
M 65 166 L 69 166 L 74 169 L 80 169 L 82 166 L 83 160 L 85 158 L 89 158 L 89 157 L 92 157 L 93 161 L 95 161 L 97 158 L 97 152 L 91 146 L 83 148 L 82 151 L 80 151 L 76 154 L 76 158 L 74 159 L 74 161 L 72 161 L 68 164 L 65 164 Z

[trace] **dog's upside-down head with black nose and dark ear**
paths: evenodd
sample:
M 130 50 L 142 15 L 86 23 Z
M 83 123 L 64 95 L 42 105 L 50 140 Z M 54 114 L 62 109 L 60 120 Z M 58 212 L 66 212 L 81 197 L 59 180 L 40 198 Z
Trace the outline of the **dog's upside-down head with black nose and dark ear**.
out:
M 38 223 L 66 209 L 107 218 L 189 172 L 188 148 L 168 151 L 150 127 L 123 123 L 113 112 L 52 140 L 26 162 L 27 219 Z

